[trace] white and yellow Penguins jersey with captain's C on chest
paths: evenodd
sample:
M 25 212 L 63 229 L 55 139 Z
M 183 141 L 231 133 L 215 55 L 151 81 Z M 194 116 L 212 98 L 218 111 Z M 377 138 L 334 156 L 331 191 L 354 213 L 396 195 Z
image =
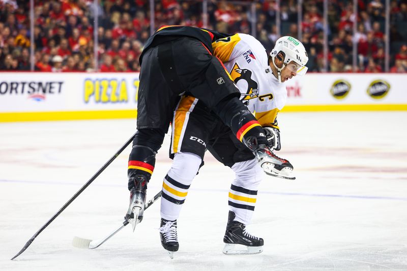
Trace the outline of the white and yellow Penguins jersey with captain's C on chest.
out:
M 269 66 L 266 49 L 254 37 L 242 33 L 212 43 L 214 55 L 225 65 L 238 86 L 242 102 L 262 126 L 276 125 L 287 91 Z

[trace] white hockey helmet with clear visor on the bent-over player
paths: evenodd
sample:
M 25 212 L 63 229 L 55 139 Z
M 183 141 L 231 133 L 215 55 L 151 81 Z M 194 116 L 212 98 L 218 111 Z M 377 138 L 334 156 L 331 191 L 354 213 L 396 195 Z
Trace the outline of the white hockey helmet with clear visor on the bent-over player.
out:
M 278 57 L 278 53 L 282 52 L 284 63 L 281 68 L 277 67 L 274 63 L 275 57 Z M 272 62 L 274 67 L 277 69 L 278 81 L 281 83 L 281 71 L 284 67 L 287 67 L 288 70 L 295 72 L 298 75 L 304 75 L 308 67 L 305 66 L 308 62 L 308 54 L 305 51 L 304 45 L 293 37 L 284 36 L 276 41 L 276 45 L 273 50 L 270 52 Z M 293 62 L 292 62 L 293 61 Z M 290 63 L 292 62 L 292 63 Z M 288 65 L 289 64 L 289 65 Z

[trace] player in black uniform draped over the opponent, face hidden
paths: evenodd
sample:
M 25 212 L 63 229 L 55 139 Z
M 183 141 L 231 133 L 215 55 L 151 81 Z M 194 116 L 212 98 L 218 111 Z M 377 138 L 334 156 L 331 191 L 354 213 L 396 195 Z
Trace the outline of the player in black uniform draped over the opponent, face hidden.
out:
M 137 133 L 128 163 L 130 205 L 126 218 L 133 229 L 143 218 L 155 155 L 183 94 L 199 98 L 233 133 L 241 135 L 244 144 L 248 138 L 255 139 L 252 151 L 267 144 L 264 129 L 240 102 L 237 86 L 213 56 L 212 43 L 227 36 L 210 29 L 163 26 L 149 38 L 140 55 Z

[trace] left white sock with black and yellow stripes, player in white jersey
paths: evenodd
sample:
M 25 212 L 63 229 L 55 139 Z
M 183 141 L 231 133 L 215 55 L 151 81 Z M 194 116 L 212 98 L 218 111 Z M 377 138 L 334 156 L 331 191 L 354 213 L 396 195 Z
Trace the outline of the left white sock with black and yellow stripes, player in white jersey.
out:
M 171 168 L 164 178 L 161 194 L 161 217 L 178 219 L 188 188 L 199 170 L 202 159 L 192 153 L 175 154 Z

